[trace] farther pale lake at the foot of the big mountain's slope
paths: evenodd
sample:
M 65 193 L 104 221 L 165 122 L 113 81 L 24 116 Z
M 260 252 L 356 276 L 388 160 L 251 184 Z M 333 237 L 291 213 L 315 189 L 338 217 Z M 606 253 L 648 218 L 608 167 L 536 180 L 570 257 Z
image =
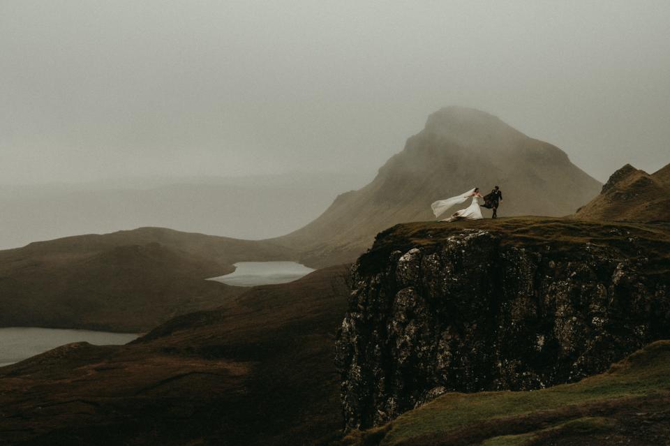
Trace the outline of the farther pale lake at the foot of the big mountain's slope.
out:
M 305 265 L 288 261 L 237 262 L 234 266 L 234 272 L 207 280 L 236 286 L 271 285 L 292 282 L 314 271 Z

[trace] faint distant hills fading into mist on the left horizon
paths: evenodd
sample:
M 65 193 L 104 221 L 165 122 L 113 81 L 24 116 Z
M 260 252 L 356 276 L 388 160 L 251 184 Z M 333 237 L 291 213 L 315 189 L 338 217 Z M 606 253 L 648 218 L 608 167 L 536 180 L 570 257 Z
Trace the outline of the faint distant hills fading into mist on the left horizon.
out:
M 0 186 L 0 248 L 161 226 L 241 239 L 284 235 L 318 216 L 364 174 L 114 179 Z

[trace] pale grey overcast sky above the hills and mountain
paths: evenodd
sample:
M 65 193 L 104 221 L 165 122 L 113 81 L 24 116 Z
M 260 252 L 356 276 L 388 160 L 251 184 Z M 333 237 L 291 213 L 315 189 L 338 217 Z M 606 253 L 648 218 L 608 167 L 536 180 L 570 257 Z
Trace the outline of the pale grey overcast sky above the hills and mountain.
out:
M 0 183 L 374 172 L 443 105 L 656 170 L 670 1 L 0 0 Z

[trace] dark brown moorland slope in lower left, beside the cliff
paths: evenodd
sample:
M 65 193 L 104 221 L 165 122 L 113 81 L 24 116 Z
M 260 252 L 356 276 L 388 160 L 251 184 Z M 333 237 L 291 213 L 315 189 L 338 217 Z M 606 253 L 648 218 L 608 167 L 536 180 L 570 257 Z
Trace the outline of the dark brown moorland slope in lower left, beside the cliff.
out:
M 0 368 L 0 445 L 308 445 L 341 429 L 344 267 L 247 290 L 128 345 Z

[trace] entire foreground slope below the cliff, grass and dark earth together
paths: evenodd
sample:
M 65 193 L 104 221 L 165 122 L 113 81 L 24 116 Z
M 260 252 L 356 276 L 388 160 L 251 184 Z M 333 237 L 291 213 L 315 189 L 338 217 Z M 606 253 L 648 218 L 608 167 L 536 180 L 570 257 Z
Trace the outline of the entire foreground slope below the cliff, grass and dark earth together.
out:
M 657 341 L 574 384 L 445 394 L 341 445 L 648 445 L 669 428 L 670 341 Z

